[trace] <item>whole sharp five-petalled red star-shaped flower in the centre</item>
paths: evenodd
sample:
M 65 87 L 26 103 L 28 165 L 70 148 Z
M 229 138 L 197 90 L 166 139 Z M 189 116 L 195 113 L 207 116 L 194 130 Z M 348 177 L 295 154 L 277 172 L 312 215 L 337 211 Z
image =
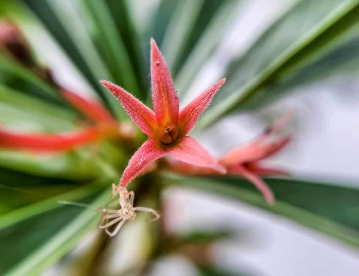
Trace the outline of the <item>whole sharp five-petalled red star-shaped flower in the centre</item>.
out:
M 102 80 L 121 102 L 137 126 L 149 140 L 135 152 L 123 172 L 120 185 L 125 187 L 151 161 L 165 154 L 192 165 L 225 173 L 225 168 L 195 139 L 186 136 L 208 107 L 225 79 L 205 90 L 179 112 L 178 96 L 165 61 L 151 39 L 151 79 L 154 112 L 120 86 Z

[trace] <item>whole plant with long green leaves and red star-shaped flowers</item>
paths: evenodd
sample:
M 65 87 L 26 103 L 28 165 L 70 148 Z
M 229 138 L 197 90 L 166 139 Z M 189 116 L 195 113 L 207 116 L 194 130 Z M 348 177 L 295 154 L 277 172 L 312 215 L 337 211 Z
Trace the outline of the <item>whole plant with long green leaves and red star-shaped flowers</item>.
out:
M 45 271 L 96 229 L 100 217 L 95 210 L 104 213 L 99 227 L 111 235 L 121 236 L 125 228 L 137 233 L 132 227 L 142 223 L 146 234 L 136 240 L 146 241 L 147 253 L 137 252 L 143 260 L 129 262 L 135 264 L 122 271 L 101 271 L 106 266 L 104 252 L 112 243 L 102 237 L 80 258 L 86 262 L 76 266 L 76 272 L 113 275 L 135 268 L 140 273 L 157 258 L 180 252 L 207 275 L 215 270 L 213 260 L 201 258 L 209 243 L 193 246 L 198 238 L 189 244 L 171 236 L 166 227 L 168 218 L 178 212 L 163 203 L 163 191 L 169 186 L 239 200 L 359 247 L 356 188 L 290 177 L 261 178 L 287 175 L 264 162 L 292 139 L 273 137 L 289 113 L 247 145 L 220 157 L 211 156 L 188 136 L 192 128 L 198 134 L 214 122 L 220 125 L 231 112 L 256 110 L 293 88 L 340 72 L 349 62 L 356 64 L 359 0 L 328 0 L 320 13 L 313 10 L 313 1 L 298 1 L 243 55 L 228 57 L 230 64 L 223 64 L 225 84 L 224 79 L 215 83 L 221 76 L 206 76 L 215 84 L 180 110 L 179 98 L 188 96 L 201 66 L 218 50 L 241 2 L 163 0 L 147 17 L 149 22 L 140 24 L 131 13 L 136 1 L 67 1 L 66 7 L 57 0 L 1 1 L 5 18 L 0 24 L 1 275 Z M 308 20 L 303 25 L 298 18 Z M 55 57 L 43 55 L 47 40 L 38 36 L 44 30 L 94 96 L 74 93 L 67 80 L 56 77 L 56 70 L 38 62 L 33 53 L 42 60 Z M 150 37 L 159 47 L 148 43 Z M 148 75 L 154 111 L 143 104 L 150 102 Z M 106 88 L 99 83 L 104 79 Z M 147 141 L 130 118 L 149 136 Z M 113 189 L 118 196 L 113 208 L 112 183 L 120 184 Z M 162 215 L 155 223 L 146 223 L 150 215 L 145 213 L 136 216 L 136 211 L 156 215 L 154 210 Z M 129 220 L 134 221 L 121 228 Z

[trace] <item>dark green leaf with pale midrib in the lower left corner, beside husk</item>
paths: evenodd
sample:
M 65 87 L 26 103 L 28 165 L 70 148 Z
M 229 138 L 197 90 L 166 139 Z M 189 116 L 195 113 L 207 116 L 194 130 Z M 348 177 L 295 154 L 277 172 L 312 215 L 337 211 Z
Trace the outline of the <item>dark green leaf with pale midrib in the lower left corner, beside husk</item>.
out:
M 81 202 L 104 206 L 109 196 L 106 190 Z M 39 275 L 95 229 L 98 219 L 93 209 L 60 206 L 0 230 L 1 275 Z

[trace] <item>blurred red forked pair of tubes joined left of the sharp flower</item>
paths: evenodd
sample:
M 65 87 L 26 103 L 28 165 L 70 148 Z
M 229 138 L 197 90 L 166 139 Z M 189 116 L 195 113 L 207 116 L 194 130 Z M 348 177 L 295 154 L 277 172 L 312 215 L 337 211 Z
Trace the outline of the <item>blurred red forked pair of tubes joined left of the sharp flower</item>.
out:
M 34 152 L 67 151 L 106 137 L 134 137 L 130 125 L 119 123 L 96 100 L 89 100 L 69 90 L 61 90 L 63 97 L 95 124 L 78 131 L 57 134 L 19 133 L 0 126 L 0 147 Z

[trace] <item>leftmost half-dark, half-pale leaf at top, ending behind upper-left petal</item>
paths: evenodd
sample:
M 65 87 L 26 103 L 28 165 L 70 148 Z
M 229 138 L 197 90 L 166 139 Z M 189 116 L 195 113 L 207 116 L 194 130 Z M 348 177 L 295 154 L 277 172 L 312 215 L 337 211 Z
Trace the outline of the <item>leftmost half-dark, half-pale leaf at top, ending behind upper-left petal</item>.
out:
M 60 2 L 48 0 L 41 2 L 24 0 L 24 2 L 64 49 L 105 105 L 110 107 L 116 116 L 123 118 L 126 113 L 118 100 L 99 84 L 101 79 L 112 79 L 111 72 L 103 63 L 85 29 L 85 23 L 77 12 L 79 8 L 76 6 L 77 3 L 69 2 L 67 5 L 62 5 Z M 76 28 L 73 27 L 74 25 Z

